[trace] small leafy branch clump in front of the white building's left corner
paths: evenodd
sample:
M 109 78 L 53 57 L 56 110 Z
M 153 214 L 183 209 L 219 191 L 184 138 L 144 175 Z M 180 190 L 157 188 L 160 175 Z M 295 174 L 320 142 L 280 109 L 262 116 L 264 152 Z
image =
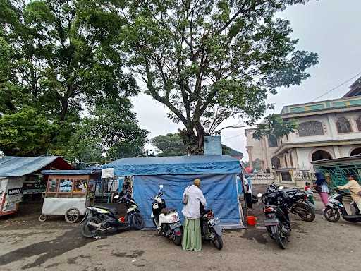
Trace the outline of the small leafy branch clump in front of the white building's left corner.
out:
M 261 140 L 264 137 L 275 136 L 282 138 L 284 135 L 294 133 L 298 129 L 298 123 L 295 119 L 285 121 L 281 116 L 271 114 L 267 116 L 262 124 L 258 124 L 253 138 Z

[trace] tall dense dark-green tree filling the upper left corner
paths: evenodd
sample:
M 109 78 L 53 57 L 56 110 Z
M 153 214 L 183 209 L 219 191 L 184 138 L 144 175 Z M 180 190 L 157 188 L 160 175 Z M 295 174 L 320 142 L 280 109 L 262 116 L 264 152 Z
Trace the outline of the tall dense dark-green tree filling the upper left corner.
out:
M 17 129 L 21 138 L 27 138 L 21 133 L 32 131 L 33 122 L 19 121 L 17 114 L 30 117 L 37 112 L 39 120 L 34 121 L 47 130 L 44 138 L 42 133 L 33 134 L 32 147 L 26 148 L 15 137 L 7 137 L 10 132 L 15 135 L 12 131 L 1 134 L 0 147 L 6 154 L 39 155 L 46 150 L 69 155 L 70 147 L 73 152 L 92 153 L 82 149 L 82 145 L 67 143 L 75 142 L 72 137 L 76 138 L 88 122 L 97 119 L 95 108 L 108 102 L 123 110 L 119 113 L 123 119 L 114 119 L 118 121 L 114 125 L 129 125 L 133 131 L 140 131 L 128 99 L 139 90 L 133 76 L 123 71 L 119 46 L 120 32 L 128 23 L 118 12 L 122 3 L 0 0 L 0 119 L 1 114 L 6 114 L 2 122 Z M 39 125 L 39 131 L 42 128 Z M 9 141 L 11 138 L 14 140 Z M 139 140 L 144 141 L 143 134 Z M 111 150 L 116 144 L 106 143 Z M 123 151 L 131 153 L 132 147 Z M 102 142 L 100 152 L 104 148 Z M 99 154 L 97 148 L 93 151 Z

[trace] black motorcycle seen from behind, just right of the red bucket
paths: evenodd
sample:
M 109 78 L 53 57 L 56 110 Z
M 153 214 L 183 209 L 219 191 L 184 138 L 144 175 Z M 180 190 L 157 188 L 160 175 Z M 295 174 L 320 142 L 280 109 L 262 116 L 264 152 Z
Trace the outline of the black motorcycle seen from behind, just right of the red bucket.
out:
M 280 248 L 285 249 L 290 236 L 290 219 L 288 210 L 292 205 L 289 195 L 282 191 L 282 187 L 276 192 L 264 194 L 264 226 L 271 239 L 274 239 Z M 262 194 L 258 194 L 262 198 Z

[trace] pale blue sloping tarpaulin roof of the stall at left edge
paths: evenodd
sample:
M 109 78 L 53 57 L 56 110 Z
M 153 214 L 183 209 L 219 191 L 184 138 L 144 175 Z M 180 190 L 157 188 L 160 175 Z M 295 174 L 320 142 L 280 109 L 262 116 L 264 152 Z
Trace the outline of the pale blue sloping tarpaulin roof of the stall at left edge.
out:
M 46 167 L 58 158 L 58 156 L 5 156 L 0 159 L 0 176 L 20 177 L 26 174 L 31 174 L 32 172 Z

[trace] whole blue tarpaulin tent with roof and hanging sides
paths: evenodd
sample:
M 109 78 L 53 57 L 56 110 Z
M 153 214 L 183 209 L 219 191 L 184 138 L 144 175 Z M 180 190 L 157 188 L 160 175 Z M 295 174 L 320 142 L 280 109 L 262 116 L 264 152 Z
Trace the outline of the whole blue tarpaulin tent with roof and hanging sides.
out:
M 181 215 L 183 191 L 195 178 L 202 180 L 201 189 L 221 219 L 223 227 L 243 227 L 243 213 L 238 201 L 236 174 L 238 159 L 228 155 L 123 158 L 104 165 L 113 168 L 115 176 L 133 176 L 133 198 L 140 205 L 146 227 L 153 227 L 151 196 L 164 186 L 167 207 Z M 181 215 L 183 219 L 183 215 Z

